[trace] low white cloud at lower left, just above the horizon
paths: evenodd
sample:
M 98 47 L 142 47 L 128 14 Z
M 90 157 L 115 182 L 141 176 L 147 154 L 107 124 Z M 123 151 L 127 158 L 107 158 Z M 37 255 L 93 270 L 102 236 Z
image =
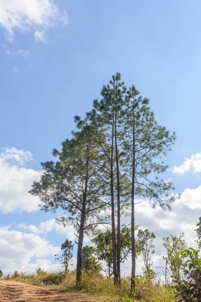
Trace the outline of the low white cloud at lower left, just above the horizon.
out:
M 0 267 L 4 273 L 18 271 L 35 271 L 38 267 L 56 269 L 58 264 L 52 264 L 44 259 L 60 251 L 45 239 L 34 235 L 10 230 L 9 226 L 0 226 Z M 35 257 L 35 263 L 31 263 Z

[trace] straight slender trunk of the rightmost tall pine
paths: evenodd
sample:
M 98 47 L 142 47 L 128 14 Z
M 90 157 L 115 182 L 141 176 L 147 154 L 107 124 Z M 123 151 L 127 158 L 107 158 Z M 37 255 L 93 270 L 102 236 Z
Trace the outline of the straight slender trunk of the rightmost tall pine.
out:
M 131 268 L 131 290 L 135 291 L 135 116 L 134 116 L 134 101 L 133 101 L 133 163 L 132 163 L 132 189 L 131 189 L 131 253 L 132 253 L 132 268 Z

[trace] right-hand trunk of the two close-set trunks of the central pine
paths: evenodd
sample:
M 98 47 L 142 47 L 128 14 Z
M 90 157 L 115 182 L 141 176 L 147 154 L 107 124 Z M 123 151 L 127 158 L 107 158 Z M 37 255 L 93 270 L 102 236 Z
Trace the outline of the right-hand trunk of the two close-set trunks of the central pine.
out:
M 115 113 L 115 152 L 116 152 L 116 167 L 117 167 L 117 276 L 118 284 L 121 285 L 121 247 L 120 247 L 120 171 L 119 171 L 119 154 L 117 145 L 117 112 Z

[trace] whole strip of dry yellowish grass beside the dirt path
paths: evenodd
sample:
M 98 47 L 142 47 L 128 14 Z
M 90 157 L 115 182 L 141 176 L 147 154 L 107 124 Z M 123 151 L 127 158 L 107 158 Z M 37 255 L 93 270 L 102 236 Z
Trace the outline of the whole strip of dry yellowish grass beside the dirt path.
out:
M 136 278 L 136 291 L 134 295 L 130 293 L 130 280 L 127 277 L 122 278 L 121 288 L 114 286 L 113 279 L 102 275 L 83 273 L 82 281 L 76 286 L 76 273 L 64 272 L 39 274 L 19 273 L 4 277 L 5 280 L 24 281 L 37 285 L 56 286 L 61 290 L 89 293 L 96 296 L 102 296 L 102 301 L 113 302 L 175 302 L 174 288 L 158 285 L 155 282 L 147 282 L 142 276 Z M 98 299 L 99 300 L 99 299 Z M 100 301 L 100 300 L 99 300 Z

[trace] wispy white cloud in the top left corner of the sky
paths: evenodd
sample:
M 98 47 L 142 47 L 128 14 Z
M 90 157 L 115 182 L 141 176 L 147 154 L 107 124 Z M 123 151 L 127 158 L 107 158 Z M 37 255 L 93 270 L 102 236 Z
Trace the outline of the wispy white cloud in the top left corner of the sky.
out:
M 58 0 L 0 0 L 0 24 L 8 41 L 13 41 L 15 30 L 66 25 L 67 14 L 59 9 L 58 3 Z

